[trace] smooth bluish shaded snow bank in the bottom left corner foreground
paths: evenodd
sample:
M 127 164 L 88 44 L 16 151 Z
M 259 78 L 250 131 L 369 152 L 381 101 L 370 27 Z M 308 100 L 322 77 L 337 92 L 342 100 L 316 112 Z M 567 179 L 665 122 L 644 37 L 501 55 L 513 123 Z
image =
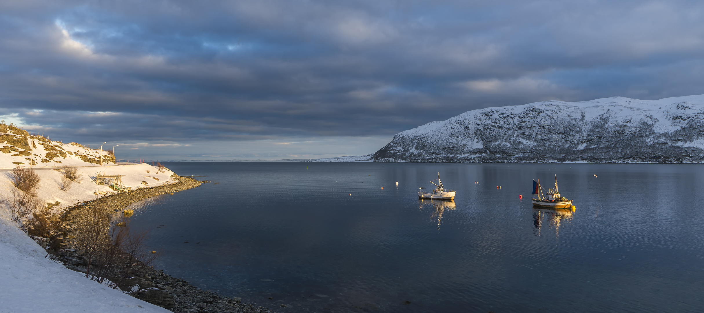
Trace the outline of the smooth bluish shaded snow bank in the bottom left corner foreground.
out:
M 1 312 L 170 312 L 51 259 L 0 210 Z

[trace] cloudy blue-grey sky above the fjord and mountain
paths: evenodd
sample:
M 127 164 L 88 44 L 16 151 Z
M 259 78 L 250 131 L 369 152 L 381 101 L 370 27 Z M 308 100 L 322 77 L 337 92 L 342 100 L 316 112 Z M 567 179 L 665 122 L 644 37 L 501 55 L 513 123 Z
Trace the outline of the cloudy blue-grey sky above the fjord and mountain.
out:
M 0 118 L 118 159 L 364 155 L 489 106 L 691 94 L 702 1 L 0 1 Z

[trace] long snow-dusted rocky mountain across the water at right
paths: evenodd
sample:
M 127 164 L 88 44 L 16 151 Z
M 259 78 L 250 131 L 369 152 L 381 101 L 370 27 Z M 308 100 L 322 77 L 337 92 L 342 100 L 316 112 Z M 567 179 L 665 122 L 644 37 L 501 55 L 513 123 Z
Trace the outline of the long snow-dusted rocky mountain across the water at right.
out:
M 704 95 L 467 111 L 396 134 L 382 162 L 704 161 Z

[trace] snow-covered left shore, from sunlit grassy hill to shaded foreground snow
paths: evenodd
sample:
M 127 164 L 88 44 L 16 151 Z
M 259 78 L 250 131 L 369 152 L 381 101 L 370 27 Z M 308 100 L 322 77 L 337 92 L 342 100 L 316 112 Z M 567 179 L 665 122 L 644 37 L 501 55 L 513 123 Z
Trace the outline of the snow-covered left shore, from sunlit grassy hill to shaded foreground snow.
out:
M 175 183 L 172 171 L 149 164 L 117 165 L 108 152 L 63 144 L 0 123 L 0 200 L 21 195 L 10 180 L 11 168 L 34 168 L 39 176 L 39 211 L 62 211 L 115 193 L 98 185 L 97 173 L 120 175 L 132 190 Z M 101 165 L 102 159 L 102 165 Z M 68 188 L 61 166 L 75 166 L 80 178 Z M 63 182 L 62 182 L 63 179 Z M 120 290 L 91 281 L 46 258 L 44 249 L 20 231 L 0 204 L 0 312 L 169 312 Z

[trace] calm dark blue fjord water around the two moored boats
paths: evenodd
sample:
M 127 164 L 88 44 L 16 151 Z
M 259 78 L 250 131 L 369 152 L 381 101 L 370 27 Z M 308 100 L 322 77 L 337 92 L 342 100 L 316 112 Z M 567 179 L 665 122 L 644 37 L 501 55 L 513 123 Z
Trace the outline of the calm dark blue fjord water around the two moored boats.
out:
M 156 267 L 277 312 L 704 307 L 701 165 L 167 166 L 210 183 L 132 205 Z M 438 172 L 455 201 L 418 200 Z M 574 213 L 532 208 L 555 174 Z

